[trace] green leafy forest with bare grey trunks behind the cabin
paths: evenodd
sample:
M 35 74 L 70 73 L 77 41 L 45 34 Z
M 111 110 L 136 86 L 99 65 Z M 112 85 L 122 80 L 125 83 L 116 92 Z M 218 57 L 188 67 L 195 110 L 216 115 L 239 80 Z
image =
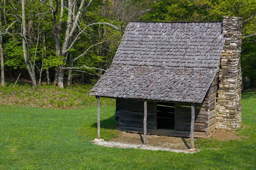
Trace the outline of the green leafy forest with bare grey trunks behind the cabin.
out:
M 110 66 L 129 21 L 237 16 L 243 17 L 244 88 L 254 88 L 255 14 L 255 0 L 1 0 L 1 85 L 19 75 L 33 87 L 95 82 Z

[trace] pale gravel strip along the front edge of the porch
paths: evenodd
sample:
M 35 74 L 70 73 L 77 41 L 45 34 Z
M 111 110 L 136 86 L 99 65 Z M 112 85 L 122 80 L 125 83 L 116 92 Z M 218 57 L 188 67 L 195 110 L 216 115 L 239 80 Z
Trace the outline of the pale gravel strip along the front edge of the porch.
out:
M 106 147 L 117 147 L 117 148 L 134 148 L 134 149 L 146 149 L 146 150 L 162 150 L 162 151 L 172 151 L 176 153 L 189 153 L 188 150 L 178 150 L 178 149 L 169 149 L 157 146 L 147 146 L 143 147 L 141 145 L 133 145 L 127 143 L 120 143 L 120 142 L 112 142 L 112 141 L 91 141 L 96 145 L 106 146 Z

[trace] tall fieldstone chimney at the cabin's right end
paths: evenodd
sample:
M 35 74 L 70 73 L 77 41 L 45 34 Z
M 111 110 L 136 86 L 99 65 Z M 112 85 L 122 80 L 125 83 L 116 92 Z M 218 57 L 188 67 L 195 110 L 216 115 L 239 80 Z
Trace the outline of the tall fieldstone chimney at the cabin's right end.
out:
M 241 17 L 224 17 L 222 33 L 226 34 L 219 71 L 219 89 L 216 103 L 217 129 L 237 130 L 241 126 L 242 72 Z

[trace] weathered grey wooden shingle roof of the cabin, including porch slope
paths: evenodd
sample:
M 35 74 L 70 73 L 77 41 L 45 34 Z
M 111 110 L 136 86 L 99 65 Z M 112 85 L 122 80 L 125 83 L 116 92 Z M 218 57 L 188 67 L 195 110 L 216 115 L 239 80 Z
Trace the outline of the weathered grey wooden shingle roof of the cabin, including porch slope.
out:
M 221 24 L 129 23 L 90 94 L 201 103 L 218 70 Z

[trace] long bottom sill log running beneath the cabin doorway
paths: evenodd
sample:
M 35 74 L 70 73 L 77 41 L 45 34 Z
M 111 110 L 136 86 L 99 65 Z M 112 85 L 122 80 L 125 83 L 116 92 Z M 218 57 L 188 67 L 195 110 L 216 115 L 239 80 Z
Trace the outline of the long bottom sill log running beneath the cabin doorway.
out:
M 127 127 L 127 126 L 119 126 L 117 130 L 131 132 L 131 133 L 141 133 L 143 134 L 143 128 L 139 127 Z M 173 137 L 190 137 L 190 131 L 179 131 L 179 130 L 169 130 L 169 129 L 147 129 L 147 134 L 151 135 L 165 135 L 165 136 L 173 136 Z M 207 137 L 204 132 L 194 131 L 194 137 L 202 138 Z

